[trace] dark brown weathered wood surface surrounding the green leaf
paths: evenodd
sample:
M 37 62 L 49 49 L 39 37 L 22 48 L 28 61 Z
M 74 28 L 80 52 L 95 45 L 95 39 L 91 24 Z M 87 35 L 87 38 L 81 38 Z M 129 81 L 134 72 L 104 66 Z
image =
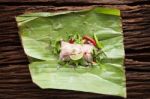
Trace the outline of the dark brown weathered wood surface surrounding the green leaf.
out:
M 128 99 L 150 99 L 149 0 L 0 0 L 0 99 L 122 99 L 77 91 L 42 90 L 31 81 L 15 16 L 93 5 L 121 10 Z

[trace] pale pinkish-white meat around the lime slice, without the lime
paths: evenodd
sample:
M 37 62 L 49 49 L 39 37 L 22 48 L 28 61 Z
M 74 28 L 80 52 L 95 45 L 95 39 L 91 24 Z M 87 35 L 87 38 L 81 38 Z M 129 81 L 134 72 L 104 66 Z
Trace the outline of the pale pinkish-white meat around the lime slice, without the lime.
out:
M 59 58 L 62 61 L 68 61 L 70 60 L 70 55 L 83 53 L 83 58 L 88 62 L 92 62 L 93 48 L 94 46 L 91 44 L 70 44 L 68 42 L 62 41 Z

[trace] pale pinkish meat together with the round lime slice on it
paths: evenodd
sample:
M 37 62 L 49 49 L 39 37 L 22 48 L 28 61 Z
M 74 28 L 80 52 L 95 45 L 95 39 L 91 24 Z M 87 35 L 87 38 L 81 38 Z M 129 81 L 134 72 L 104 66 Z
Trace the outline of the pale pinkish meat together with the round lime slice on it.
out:
M 74 61 L 83 58 L 85 61 L 92 63 L 92 52 L 95 46 L 91 43 L 70 43 L 70 40 L 68 42 L 61 41 L 59 59 L 61 61 Z

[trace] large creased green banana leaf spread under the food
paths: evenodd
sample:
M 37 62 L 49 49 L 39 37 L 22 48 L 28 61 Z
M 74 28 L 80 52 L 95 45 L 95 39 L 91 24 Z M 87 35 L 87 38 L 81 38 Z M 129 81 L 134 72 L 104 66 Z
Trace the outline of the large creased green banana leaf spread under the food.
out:
M 32 80 L 40 88 L 77 90 L 126 97 L 124 45 L 120 11 L 92 8 L 80 11 L 28 13 L 16 17 Z M 50 39 L 67 33 L 96 34 L 106 55 L 98 66 L 59 66 Z M 58 68 L 59 67 L 59 68 Z

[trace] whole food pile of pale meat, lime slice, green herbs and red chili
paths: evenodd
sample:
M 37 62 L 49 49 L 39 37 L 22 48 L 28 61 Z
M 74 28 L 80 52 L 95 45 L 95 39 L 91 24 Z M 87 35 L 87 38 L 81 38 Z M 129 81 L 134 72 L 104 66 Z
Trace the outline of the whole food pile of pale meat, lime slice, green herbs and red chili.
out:
M 67 40 L 52 40 L 50 46 L 53 53 L 59 56 L 59 63 L 68 65 L 89 66 L 97 64 L 100 60 L 99 55 L 102 54 L 102 45 L 97 39 L 96 34 L 93 37 L 75 34 L 68 37 Z

